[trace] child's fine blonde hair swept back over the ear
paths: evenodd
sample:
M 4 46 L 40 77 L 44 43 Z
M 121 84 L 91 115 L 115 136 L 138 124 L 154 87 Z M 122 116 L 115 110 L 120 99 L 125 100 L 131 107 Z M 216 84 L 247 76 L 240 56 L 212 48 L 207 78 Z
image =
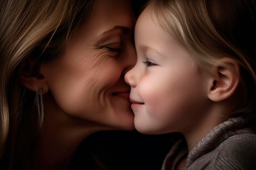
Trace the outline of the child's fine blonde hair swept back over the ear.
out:
M 256 2 L 254 0 L 150 0 L 146 12 L 174 36 L 199 66 L 210 71 L 218 59 L 240 64 L 240 103 L 235 113 L 256 104 Z M 228 67 L 225 63 L 220 66 Z M 238 114 L 239 115 L 239 114 Z

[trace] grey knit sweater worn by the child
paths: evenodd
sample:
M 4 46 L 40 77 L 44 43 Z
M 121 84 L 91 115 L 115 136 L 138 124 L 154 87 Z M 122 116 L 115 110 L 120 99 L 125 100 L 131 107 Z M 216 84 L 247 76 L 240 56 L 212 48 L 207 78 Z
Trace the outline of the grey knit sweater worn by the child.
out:
M 256 170 L 255 126 L 253 114 L 216 126 L 191 150 L 183 170 Z M 186 151 L 184 139 L 178 141 L 166 156 L 162 170 L 173 170 Z

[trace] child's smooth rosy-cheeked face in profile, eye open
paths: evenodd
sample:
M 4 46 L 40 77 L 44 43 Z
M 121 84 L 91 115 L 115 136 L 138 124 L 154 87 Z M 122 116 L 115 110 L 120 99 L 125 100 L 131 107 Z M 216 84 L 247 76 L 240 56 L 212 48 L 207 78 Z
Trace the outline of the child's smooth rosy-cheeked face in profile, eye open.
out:
M 135 26 L 135 46 L 137 63 L 125 75 L 135 128 L 160 134 L 198 125 L 208 102 L 206 73 L 145 10 Z

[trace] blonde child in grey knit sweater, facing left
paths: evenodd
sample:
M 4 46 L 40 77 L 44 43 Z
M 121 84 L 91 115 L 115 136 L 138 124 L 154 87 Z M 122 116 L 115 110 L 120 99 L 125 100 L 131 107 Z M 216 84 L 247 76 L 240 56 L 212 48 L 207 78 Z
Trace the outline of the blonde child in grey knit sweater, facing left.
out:
M 255 170 L 254 0 L 150 0 L 135 45 L 135 128 L 184 136 L 162 170 Z

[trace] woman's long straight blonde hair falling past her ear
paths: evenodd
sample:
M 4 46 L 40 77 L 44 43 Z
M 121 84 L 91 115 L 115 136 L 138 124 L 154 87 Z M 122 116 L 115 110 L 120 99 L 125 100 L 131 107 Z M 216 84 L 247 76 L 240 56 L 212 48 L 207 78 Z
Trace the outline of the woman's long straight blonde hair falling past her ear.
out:
M 40 65 L 65 52 L 70 36 L 93 4 L 93 0 L 0 2 L 1 169 L 24 167 L 43 123 L 43 97 L 20 83 L 22 64 L 33 58 Z M 40 75 L 37 70 L 36 74 Z M 31 106 L 38 111 L 28 110 Z

